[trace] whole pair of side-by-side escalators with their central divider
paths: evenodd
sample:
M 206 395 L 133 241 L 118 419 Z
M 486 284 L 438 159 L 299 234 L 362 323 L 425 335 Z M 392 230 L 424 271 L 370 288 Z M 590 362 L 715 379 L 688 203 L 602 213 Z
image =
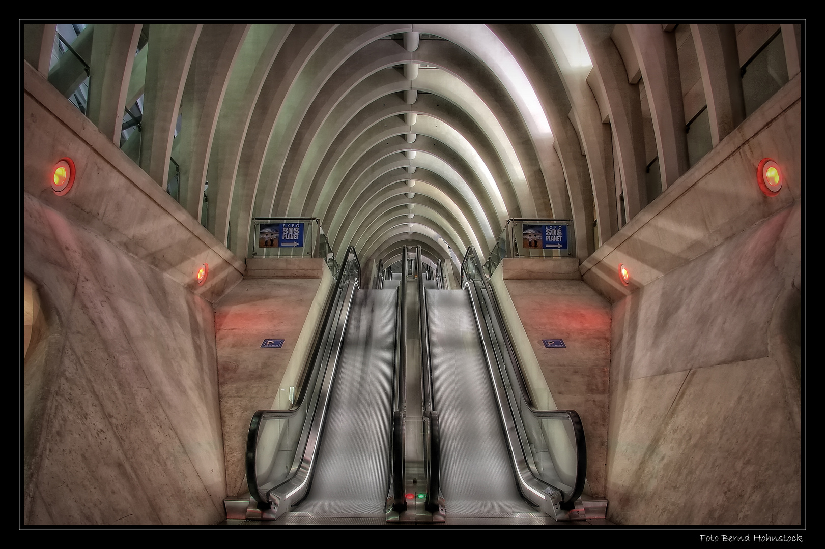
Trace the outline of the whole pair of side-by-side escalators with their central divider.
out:
M 441 289 L 441 269 L 423 266 L 420 246 L 404 246 L 402 265 L 379 265 L 374 288 L 361 289 L 347 251 L 295 407 L 252 418 L 245 518 L 597 518 L 580 497 L 581 421 L 575 411 L 535 409 L 475 251 L 464 257 L 460 290 Z

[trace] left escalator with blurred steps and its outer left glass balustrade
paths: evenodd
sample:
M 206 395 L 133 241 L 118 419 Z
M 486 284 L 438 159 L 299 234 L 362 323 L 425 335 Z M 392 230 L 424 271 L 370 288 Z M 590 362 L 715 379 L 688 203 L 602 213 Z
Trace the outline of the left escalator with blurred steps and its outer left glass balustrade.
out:
M 398 292 L 361 289 L 354 249 L 332 293 L 304 390 L 257 411 L 247 439 L 247 519 L 384 523 L 392 482 Z

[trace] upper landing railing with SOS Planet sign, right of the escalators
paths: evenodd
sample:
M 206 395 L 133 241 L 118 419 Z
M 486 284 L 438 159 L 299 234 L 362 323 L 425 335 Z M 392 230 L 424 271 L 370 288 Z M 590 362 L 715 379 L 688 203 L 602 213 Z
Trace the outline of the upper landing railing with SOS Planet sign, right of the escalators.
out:
M 572 219 L 511 218 L 483 268 L 488 278 L 505 257 L 576 257 Z

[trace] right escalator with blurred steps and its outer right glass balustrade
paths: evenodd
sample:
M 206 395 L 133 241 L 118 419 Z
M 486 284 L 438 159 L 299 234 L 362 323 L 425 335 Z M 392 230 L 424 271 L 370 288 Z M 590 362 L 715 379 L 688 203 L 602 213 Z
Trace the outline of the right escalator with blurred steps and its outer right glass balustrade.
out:
M 422 314 L 440 422 L 447 523 L 549 524 L 603 519 L 581 496 L 587 449 L 575 411 L 540 411 L 472 247 L 460 290 L 427 289 Z

